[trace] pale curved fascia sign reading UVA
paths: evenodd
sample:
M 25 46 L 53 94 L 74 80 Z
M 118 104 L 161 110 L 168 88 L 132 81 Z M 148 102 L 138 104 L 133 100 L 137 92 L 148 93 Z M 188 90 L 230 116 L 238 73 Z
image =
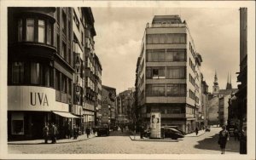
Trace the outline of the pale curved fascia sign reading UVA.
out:
M 68 104 L 55 101 L 55 89 L 8 86 L 8 111 L 68 111 Z

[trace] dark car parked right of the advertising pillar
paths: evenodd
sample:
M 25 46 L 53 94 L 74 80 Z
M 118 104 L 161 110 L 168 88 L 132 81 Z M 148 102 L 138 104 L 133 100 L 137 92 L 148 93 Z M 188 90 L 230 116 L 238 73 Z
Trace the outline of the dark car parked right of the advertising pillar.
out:
M 163 138 L 172 138 L 173 140 L 184 137 L 182 131 L 168 127 L 161 127 L 161 134 Z

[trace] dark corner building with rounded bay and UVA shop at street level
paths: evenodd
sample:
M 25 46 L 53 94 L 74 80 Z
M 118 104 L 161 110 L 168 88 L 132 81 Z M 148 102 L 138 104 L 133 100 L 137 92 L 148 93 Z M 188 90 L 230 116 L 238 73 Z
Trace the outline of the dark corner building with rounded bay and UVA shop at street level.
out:
M 70 12 L 70 8 L 8 9 L 10 139 L 42 137 L 44 123 L 61 128 L 67 118 L 75 117 L 69 112 L 74 71 Z

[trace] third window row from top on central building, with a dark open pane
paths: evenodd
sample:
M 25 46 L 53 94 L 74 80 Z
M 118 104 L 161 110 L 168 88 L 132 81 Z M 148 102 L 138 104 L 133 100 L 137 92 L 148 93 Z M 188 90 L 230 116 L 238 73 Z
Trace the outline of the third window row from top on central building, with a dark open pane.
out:
M 180 67 L 147 67 L 147 79 L 167 78 L 167 79 L 181 79 L 186 77 L 186 68 Z

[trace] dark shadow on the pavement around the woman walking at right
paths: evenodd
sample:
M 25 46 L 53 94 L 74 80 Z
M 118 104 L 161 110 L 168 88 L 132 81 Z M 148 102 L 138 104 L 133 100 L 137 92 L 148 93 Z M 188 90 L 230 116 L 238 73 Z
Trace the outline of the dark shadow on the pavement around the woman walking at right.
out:
M 218 145 L 218 134 L 215 134 L 204 140 L 199 140 L 198 145 L 195 145 L 195 148 L 202 150 L 215 150 L 221 151 Z M 239 142 L 233 140 L 233 137 L 230 137 L 230 140 L 227 142 L 225 151 L 229 152 L 239 152 Z

